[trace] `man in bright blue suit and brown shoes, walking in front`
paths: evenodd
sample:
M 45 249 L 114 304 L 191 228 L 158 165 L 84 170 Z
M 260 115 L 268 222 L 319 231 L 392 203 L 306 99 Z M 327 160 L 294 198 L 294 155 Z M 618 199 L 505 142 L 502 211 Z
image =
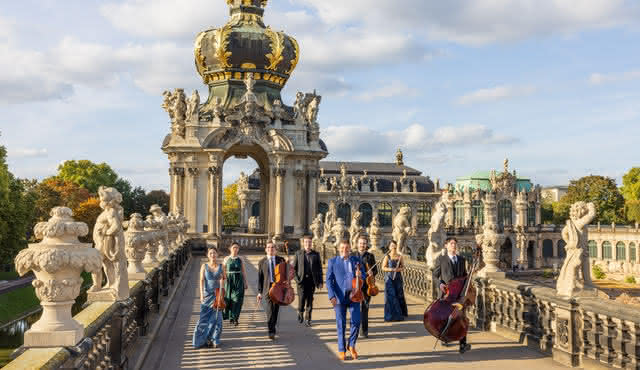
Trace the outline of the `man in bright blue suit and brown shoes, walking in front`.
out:
M 360 329 L 360 302 L 352 302 L 350 299 L 352 281 L 365 276 L 364 264 L 360 257 L 351 256 L 349 239 L 340 241 L 338 248 L 340 256 L 329 260 L 327 265 L 327 290 L 329 300 L 336 312 L 336 326 L 338 328 L 338 357 L 345 359 L 345 352 L 349 350 L 354 360 L 358 359 L 356 341 Z M 349 344 L 345 346 L 345 330 L 347 328 L 347 309 L 351 315 Z

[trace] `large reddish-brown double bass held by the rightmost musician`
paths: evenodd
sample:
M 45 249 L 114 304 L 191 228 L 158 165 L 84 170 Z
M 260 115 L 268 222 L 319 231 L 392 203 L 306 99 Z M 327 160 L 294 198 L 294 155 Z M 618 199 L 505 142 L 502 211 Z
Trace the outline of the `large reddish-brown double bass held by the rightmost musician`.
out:
M 480 252 L 481 249 L 476 248 L 469 274 L 451 280 L 445 287 L 444 297 L 431 302 L 424 311 L 425 329 L 445 344 L 459 341 L 469 331 L 466 309 L 476 301 L 473 275 L 480 264 Z

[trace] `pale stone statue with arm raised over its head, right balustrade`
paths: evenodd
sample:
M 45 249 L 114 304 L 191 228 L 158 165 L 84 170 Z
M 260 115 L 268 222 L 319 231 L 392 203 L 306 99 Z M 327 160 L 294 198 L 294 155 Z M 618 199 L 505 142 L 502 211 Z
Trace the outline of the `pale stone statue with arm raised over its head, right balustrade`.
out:
M 558 295 L 572 297 L 584 290 L 595 291 L 591 281 L 591 266 L 589 265 L 589 248 L 587 248 L 588 225 L 596 216 L 593 203 L 576 202 L 571 205 L 569 219 L 562 229 L 562 239 L 567 243 L 564 260 L 556 290 Z

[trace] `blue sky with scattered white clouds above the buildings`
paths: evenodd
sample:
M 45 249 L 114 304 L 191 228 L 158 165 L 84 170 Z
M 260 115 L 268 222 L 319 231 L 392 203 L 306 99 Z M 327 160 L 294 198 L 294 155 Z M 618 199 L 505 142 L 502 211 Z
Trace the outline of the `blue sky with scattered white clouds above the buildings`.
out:
M 69 159 L 168 189 L 162 91 L 207 89 L 198 32 L 224 0 L 0 2 L 0 145 L 18 177 Z M 542 186 L 613 177 L 640 158 L 640 2 L 269 0 L 298 40 L 283 89 L 322 95 L 327 160 L 405 164 L 441 183 L 512 169 Z M 255 167 L 225 163 L 225 182 Z

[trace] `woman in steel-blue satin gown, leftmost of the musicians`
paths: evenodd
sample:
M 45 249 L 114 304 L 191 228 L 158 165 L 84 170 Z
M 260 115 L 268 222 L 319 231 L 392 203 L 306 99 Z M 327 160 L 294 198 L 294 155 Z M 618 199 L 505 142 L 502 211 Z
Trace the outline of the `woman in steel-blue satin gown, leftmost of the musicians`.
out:
M 213 309 L 216 299 L 216 289 L 223 286 L 226 279 L 222 264 L 217 262 L 218 252 L 214 248 L 207 250 L 207 263 L 200 268 L 200 319 L 193 332 L 193 346 L 195 348 L 213 347 L 220 345 L 222 334 L 222 311 Z

